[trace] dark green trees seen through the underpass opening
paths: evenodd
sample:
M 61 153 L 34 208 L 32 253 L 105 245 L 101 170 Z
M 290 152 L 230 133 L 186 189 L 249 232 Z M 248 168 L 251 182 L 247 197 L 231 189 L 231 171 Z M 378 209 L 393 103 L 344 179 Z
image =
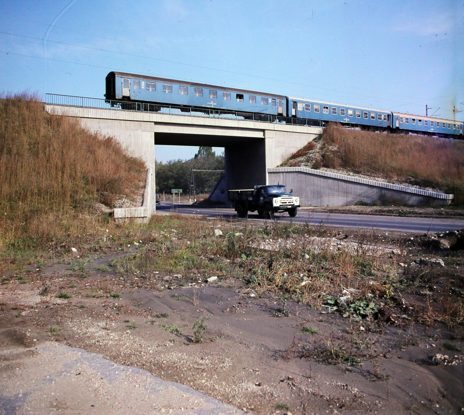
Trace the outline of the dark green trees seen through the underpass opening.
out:
M 224 152 L 219 156 L 212 147 L 199 147 L 198 153 L 190 160 L 169 160 L 167 163 L 155 161 L 156 193 L 171 193 L 172 189 L 182 189 L 188 193 L 192 184 L 193 170 L 224 170 Z M 210 193 L 221 172 L 194 171 L 195 192 Z M 192 188 L 193 189 L 193 188 Z

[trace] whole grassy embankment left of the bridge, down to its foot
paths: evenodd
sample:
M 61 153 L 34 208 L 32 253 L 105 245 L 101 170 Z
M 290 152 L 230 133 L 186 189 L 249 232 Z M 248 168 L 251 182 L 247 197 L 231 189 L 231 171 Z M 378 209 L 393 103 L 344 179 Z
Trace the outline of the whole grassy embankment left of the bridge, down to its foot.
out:
M 113 138 L 45 113 L 37 96 L 1 97 L 2 256 L 104 235 L 109 218 L 97 214 L 95 203 L 111 206 L 121 196 L 130 197 L 144 181 L 145 169 Z

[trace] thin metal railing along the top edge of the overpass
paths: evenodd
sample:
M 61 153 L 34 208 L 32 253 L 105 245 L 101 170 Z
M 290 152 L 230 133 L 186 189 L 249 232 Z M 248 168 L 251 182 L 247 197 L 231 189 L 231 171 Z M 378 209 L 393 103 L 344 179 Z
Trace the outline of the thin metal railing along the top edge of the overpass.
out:
M 179 107 L 167 104 L 150 104 L 148 102 L 114 101 L 71 95 L 45 94 L 45 104 L 63 105 L 66 107 L 98 108 L 119 111 L 136 111 L 142 113 L 184 115 L 188 117 L 235 119 L 238 121 L 266 122 L 293 126 L 323 126 L 323 121 L 318 119 L 281 117 L 277 115 L 243 113 L 238 111 L 227 111 L 210 108 Z

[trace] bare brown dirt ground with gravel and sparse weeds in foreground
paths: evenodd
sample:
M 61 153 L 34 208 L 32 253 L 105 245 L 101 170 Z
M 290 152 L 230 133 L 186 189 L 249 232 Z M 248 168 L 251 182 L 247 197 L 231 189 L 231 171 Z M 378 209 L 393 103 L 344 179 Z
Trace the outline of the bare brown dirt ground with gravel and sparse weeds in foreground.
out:
M 439 300 L 433 286 L 393 297 L 382 322 L 371 324 L 283 300 L 277 291 L 258 293 L 230 275 L 207 283 L 200 270 L 189 270 L 186 281 L 162 270 L 139 278 L 107 266 L 142 248 L 90 254 L 85 275 L 65 263 L 32 264 L 23 279 L 5 270 L 2 376 L 14 378 L 19 367 L 12 350 L 33 353 L 55 341 L 254 414 L 463 413 L 462 336 L 409 316 L 412 304 Z M 461 259 L 440 270 L 462 278 Z M 63 292 L 69 297 L 58 298 Z M 356 350 L 352 359 L 340 358 L 346 345 Z

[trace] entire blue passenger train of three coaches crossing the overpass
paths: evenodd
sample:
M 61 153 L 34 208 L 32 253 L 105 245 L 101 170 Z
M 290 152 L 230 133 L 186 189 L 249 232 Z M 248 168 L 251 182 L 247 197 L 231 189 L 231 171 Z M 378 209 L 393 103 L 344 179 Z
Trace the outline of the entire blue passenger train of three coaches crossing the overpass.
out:
M 320 121 L 334 121 L 377 131 L 391 129 L 392 132 L 417 132 L 452 138 L 463 138 L 464 135 L 462 121 L 123 72 L 110 72 L 106 76 L 105 97 L 111 101 L 111 105 L 122 109 L 133 109 L 135 106 L 142 108 L 142 111 L 161 111 L 161 107 L 176 106 L 180 107 L 181 112 L 190 112 L 190 108 L 197 108 L 201 112 L 199 108 L 208 108 L 204 112 L 216 109 L 220 110 L 219 113 L 235 111 L 296 119 L 274 119 L 275 122 L 291 124 L 294 121 L 298 124 L 298 119 L 304 120 L 304 125 L 309 125 L 308 120 L 315 120 L 318 125 Z M 251 119 L 255 119 L 255 115 Z

